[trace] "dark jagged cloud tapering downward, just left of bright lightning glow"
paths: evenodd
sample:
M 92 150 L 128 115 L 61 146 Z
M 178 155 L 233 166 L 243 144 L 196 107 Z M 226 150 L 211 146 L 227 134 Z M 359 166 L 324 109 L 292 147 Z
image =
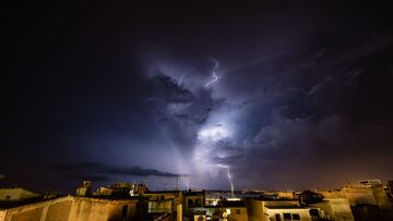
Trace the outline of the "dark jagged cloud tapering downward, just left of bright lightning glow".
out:
M 188 89 L 162 72 L 155 72 L 150 83 L 152 90 L 145 107 L 153 110 L 164 136 L 188 156 L 194 148 L 198 130 L 225 99 L 213 98 L 212 90 L 202 86 Z

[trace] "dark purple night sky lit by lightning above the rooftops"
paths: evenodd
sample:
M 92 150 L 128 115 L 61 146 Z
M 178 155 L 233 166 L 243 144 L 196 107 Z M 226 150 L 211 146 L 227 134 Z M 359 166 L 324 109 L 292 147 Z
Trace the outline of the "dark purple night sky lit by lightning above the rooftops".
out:
M 391 10 L 318 2 L 3 9 L 0 174 L 40 191 L 228 189 L 217 164 L 237 189 L 393 179 Z

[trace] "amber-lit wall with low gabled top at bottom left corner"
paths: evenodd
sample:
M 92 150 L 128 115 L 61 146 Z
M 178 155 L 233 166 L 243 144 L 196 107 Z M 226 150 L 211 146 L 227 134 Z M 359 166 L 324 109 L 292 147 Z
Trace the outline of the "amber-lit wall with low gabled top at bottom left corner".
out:
M 66 196 L 3 210 L 3 221 L 107 221 L 136 216 L 134 199 L 98 199 Z

